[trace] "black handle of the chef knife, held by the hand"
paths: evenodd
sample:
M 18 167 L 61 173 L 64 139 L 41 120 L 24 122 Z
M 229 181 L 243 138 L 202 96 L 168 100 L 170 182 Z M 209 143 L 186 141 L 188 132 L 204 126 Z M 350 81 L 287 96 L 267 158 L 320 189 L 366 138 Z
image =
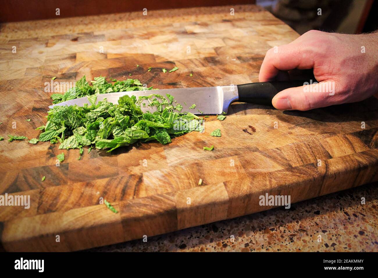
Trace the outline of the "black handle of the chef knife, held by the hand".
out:
M 272 99 L 277 93 L 288 88 L 303 86 L 305 82 L 309 84 L 310 80 L 256 82 L 237 85 L 238 101 L 272 106 Z

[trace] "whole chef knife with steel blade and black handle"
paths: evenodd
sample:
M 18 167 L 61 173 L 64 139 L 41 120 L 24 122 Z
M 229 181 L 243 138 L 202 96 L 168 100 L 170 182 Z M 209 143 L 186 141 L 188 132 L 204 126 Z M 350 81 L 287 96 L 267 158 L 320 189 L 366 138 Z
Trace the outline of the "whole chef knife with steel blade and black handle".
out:
M 131 92 L 118 92 L 106 93 L 97 95 L 97 102 L 102 101 L 104 98 L 111 103 L 118 103 L 121 96 L 129 95 L 148 96 L 153 93 L 166 96 L 172 95 L 177 101 L 173 103 L 174 106 L 181 104 L 183 109 L 180 112 L 192 112 L 193 114 L 222 114 L 227 113 L 229 105 L 234 101 L 243 103 L 254 103 L 272 106 L 273 97 L 280 91 L 291 88 L 303 86 L 304 82 L 308 80 L 291 80 L 291 81 L 271 81 L 271 82 L 256 82 L 242 85 L 226 85 L 216 87 L 197 87 L 197 88 L 179 88 L 179 89 L 162 89 L 162 90 L 145 90 L 145 91 L 131 91 Z M 307 83 L 308 84 L 308 83 Z M 49 106 L 65 105 L 84 106 L 90 104 L 88 98 L 76 98 L 62 103 L 57 103 Z M 148 102 L 147 102 L 148 104 Z M 156 107 L 141 105 L 143 112 L 147 110 L 150 112 L 156 111 Z M 194 109 L 189 109 L 195 104 Z

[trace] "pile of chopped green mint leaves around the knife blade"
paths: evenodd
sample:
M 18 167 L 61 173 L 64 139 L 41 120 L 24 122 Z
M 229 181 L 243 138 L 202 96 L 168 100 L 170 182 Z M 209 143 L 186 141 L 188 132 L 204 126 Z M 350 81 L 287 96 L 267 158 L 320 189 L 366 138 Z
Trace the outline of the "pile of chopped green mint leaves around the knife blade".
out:
M 119 98 L 118 104 L 109 103 L 106 99 L 96 104 L 98 94 L 146 90 L 137 79 L 112 84 L 105 77 L 97 77 L 91 83 L 89 85 L 84 76 L 64 95 L 51 96 L 54 104 L 83 96 L 87 96 L 91 104 L 84 107 L 55 106 L 48 111 L 46 125 L 38 127 L 44 130 L 39 141 L 60 142 L 59 149 L 78 148 L 81 153 L 83 146 L 110 149 L 110 152 L 136 142 L 156 140 L 167 144 L 173 137 L 203 130 L 202 118 L 193 113 L 180 113 L 182 106 L 174 106 L 170 95 L 164 98 L 152 94 L 140 97 L 138 101 L 135 96 L 125 95 Z M 141 104 L 146 105 L 143 101 L 148 106 L 156 106 L 157 111 L 142 112 Z

